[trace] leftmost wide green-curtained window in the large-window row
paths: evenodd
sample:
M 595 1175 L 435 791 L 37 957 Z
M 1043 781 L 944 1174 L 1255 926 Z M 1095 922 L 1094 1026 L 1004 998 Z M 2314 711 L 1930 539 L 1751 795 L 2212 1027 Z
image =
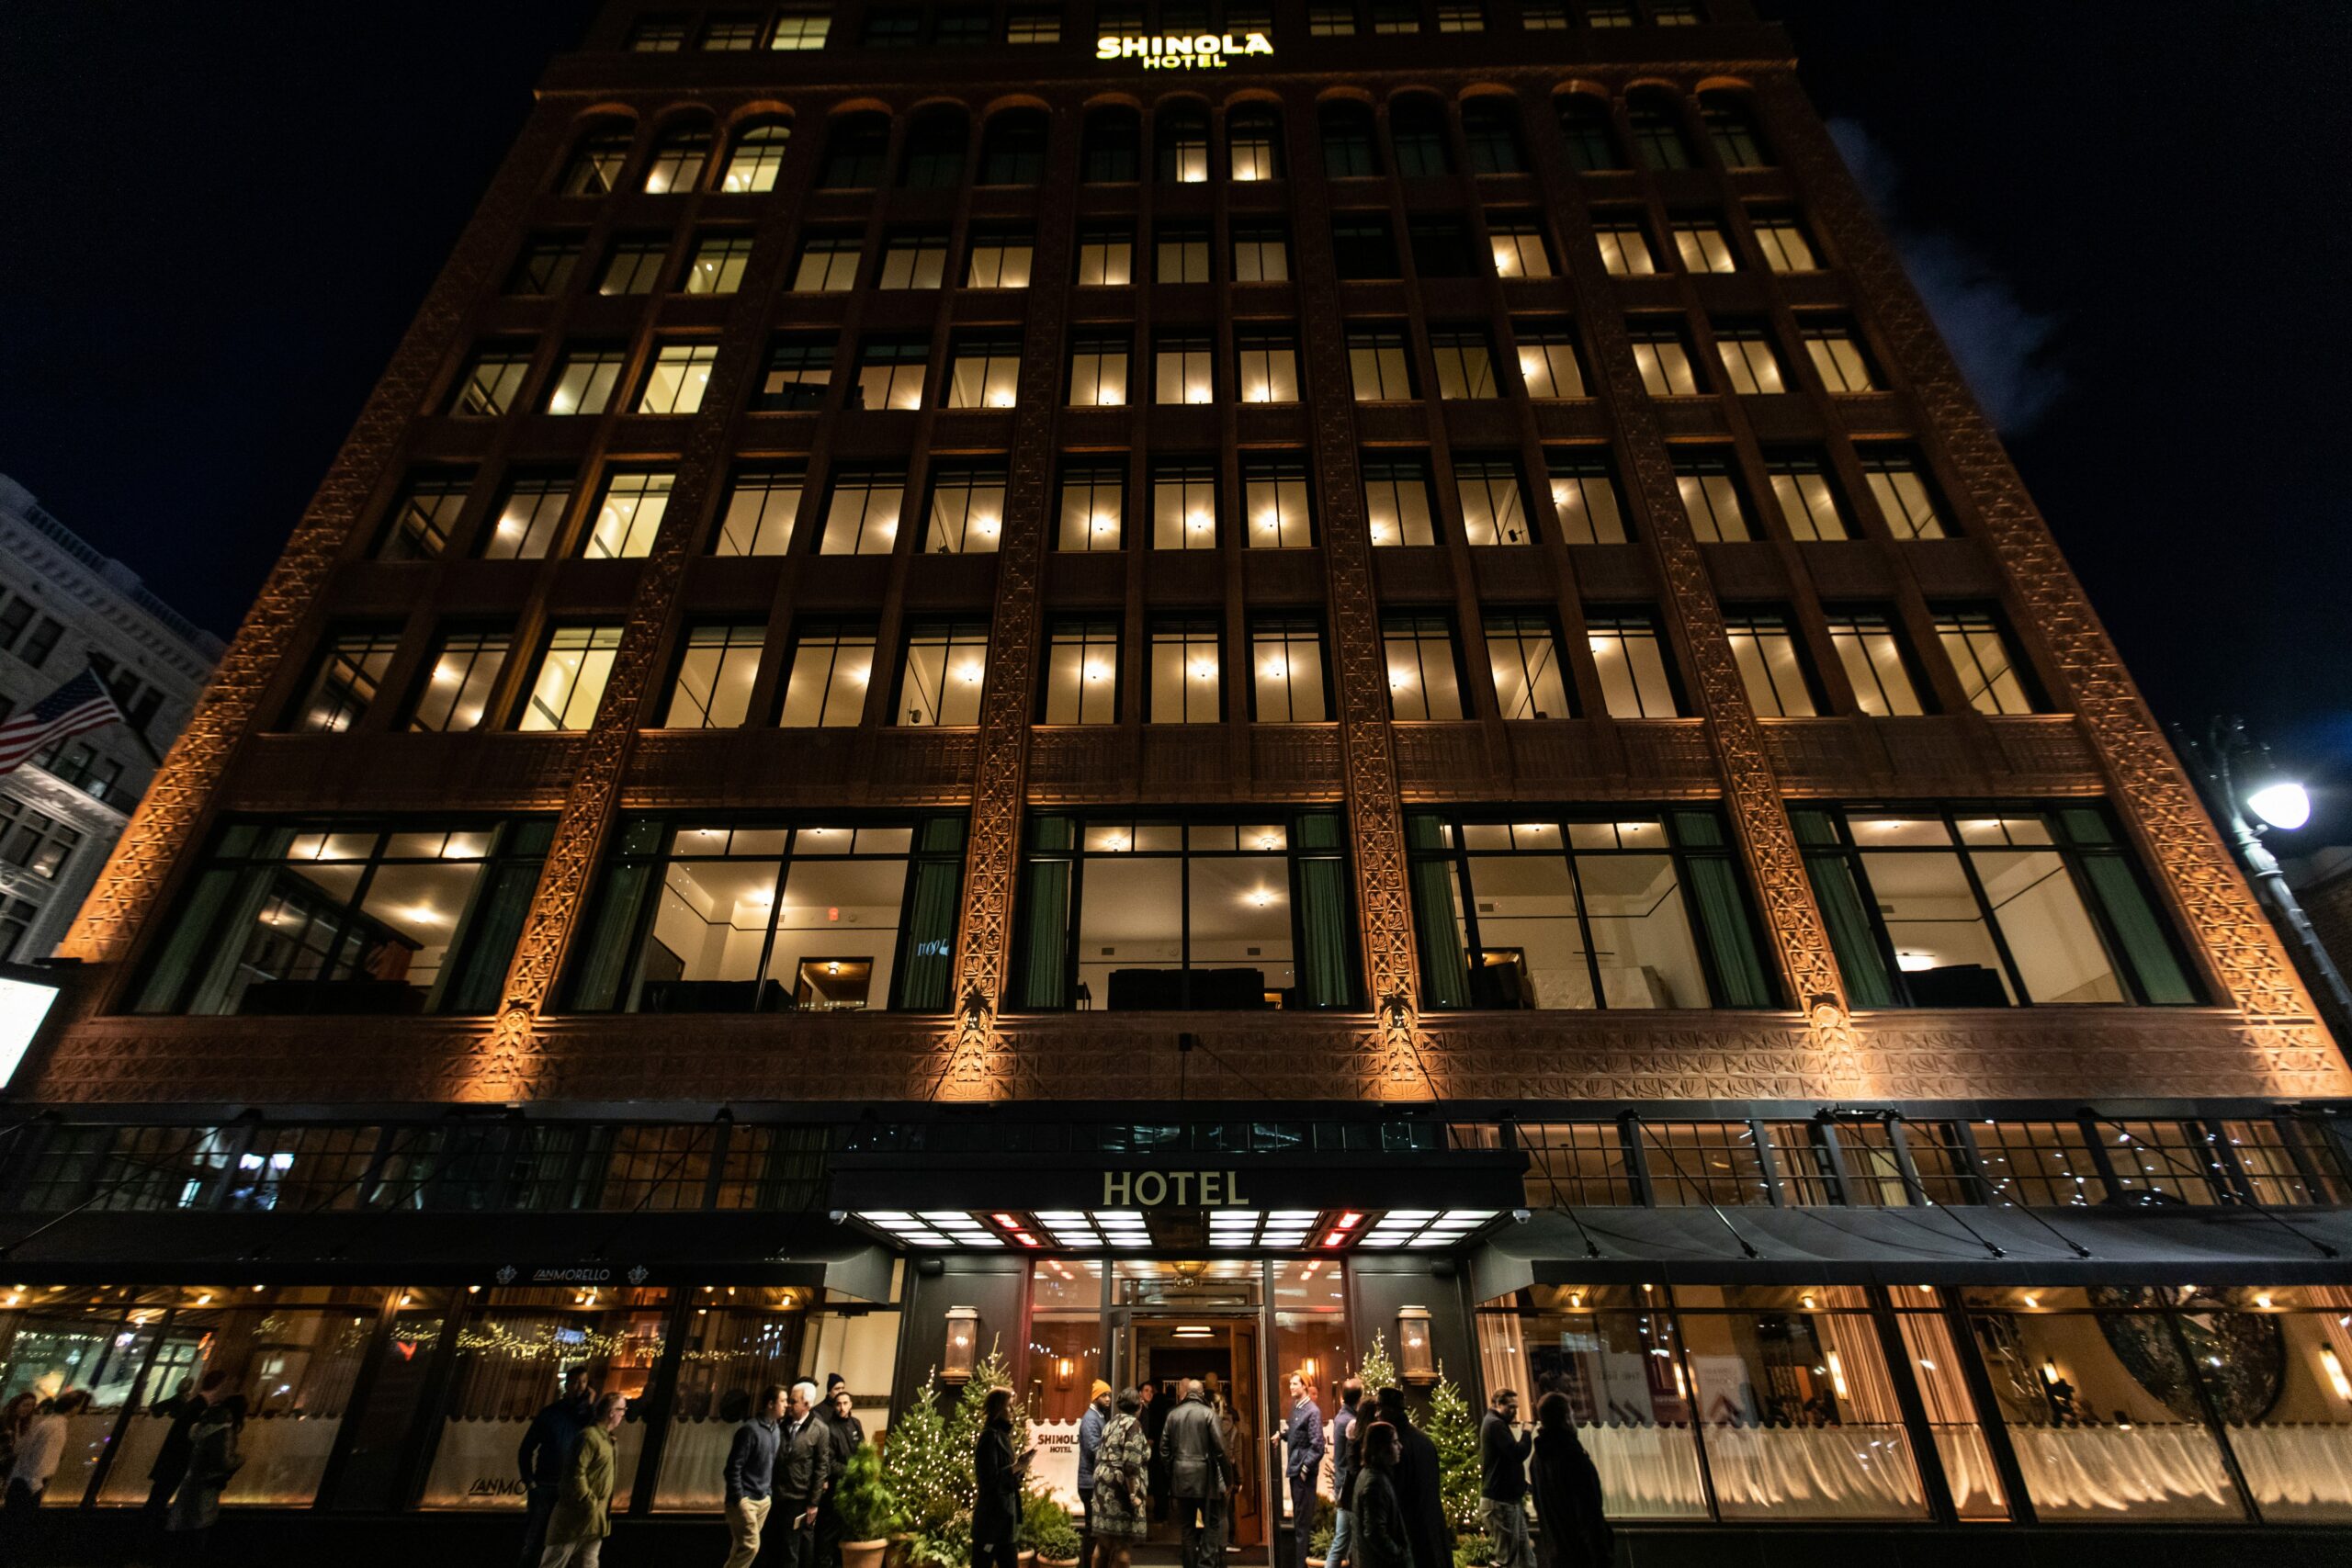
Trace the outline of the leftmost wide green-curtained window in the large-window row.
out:
M 230 823 L 141 987 L 141 1013 L 487 1013 L 550 818 L 468 827 Z

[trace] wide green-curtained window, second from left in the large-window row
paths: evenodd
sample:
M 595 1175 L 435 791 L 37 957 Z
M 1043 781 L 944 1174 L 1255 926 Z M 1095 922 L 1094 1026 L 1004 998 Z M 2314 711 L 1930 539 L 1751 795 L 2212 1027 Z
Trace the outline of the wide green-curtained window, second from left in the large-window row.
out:
M 964 823 L 628 818 L 572 973 L 583 1013 L 948 1009 Z

